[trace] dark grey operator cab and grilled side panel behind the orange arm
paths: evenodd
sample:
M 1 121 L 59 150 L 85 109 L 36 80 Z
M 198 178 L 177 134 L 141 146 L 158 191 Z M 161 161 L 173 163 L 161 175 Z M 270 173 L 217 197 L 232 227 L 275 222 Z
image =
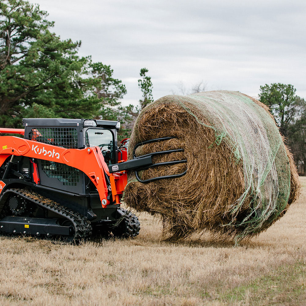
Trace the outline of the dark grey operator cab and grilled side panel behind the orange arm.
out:
M 117 148 L 119 121 L 25 118 L 22 122 L 25 139 L 67 149 L 98 146 L 104 155 L 107 166 L 118 162 L 118 154 L 115 154 L 115 152 L 120 152 L 120 149 Z M 40 179 L 39 186 L 41 187 L 53 186 L 59 190 L 76 194 L 97 193 L 90 179 L 77 168 L 45 159 L 36 159 L 36 163 Z M 30 168 L 31 165 L 28 165 L 25 169 Z

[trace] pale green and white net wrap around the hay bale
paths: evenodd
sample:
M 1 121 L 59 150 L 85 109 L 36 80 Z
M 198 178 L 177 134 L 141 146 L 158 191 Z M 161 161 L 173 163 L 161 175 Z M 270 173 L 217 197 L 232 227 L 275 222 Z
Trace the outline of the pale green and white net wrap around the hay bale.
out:
M 239 93 L 207 92 L 188 98 L 188 102 L 206 110 L 204 118 L 215 131 L 215 143 L 225 141 L 232 148 L 233 158 L 242 162 L 245 191 L 233 203 L 232 213 L 236 215 L 250 195 L 252 209 L 240 225 L 248 224 L 244 234 L 257 232 L 271 216 L 280 215 L 290 195 L 289 159 L 277 126 L 261 106 Z M 197 118 L 188 106 L 179 104 Z

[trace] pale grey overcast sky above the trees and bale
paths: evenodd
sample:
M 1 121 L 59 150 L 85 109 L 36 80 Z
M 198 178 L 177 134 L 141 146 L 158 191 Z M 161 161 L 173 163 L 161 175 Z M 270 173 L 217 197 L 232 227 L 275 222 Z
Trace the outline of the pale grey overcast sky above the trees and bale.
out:
M 62 39 L 81 40 L 80 56 L 111 65 L 141 97 L 140 69 L 149 69 L 153 98 L 203 81 L 205 90 L 257 97 L 259 86 L 293 84 L 306 98 L 306 1 L 30 0 L 55 21 Z

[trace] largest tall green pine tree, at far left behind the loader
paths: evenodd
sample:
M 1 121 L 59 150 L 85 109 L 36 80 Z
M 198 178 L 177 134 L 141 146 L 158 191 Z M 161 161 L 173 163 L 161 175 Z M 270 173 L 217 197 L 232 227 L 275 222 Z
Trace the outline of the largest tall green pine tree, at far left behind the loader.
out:
M 0 2 L 0 126 L 17 127 L 32 114 L 91 117 L 99 110 L 84 91 L 90 58 L 79 58 L 80 42 L 61 40 L 47 12 L 23 0 Z M 34 104 L 36 103 L 36 104 Z M 39 108 L 37 108 L 39 105 Z

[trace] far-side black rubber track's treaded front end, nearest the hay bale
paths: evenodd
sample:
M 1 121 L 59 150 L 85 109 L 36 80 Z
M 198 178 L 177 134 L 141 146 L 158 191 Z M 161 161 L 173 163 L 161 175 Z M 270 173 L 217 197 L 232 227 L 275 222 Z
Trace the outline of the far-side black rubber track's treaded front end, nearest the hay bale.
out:
M 124 213 L 124 216 L 120 217 L 122 218 L 122 221 L 112 230 L 114 237 L 136 237 L 139 235 L 140 231 L 140 222 L 138 217 L 126 209 L 120 209 Z

